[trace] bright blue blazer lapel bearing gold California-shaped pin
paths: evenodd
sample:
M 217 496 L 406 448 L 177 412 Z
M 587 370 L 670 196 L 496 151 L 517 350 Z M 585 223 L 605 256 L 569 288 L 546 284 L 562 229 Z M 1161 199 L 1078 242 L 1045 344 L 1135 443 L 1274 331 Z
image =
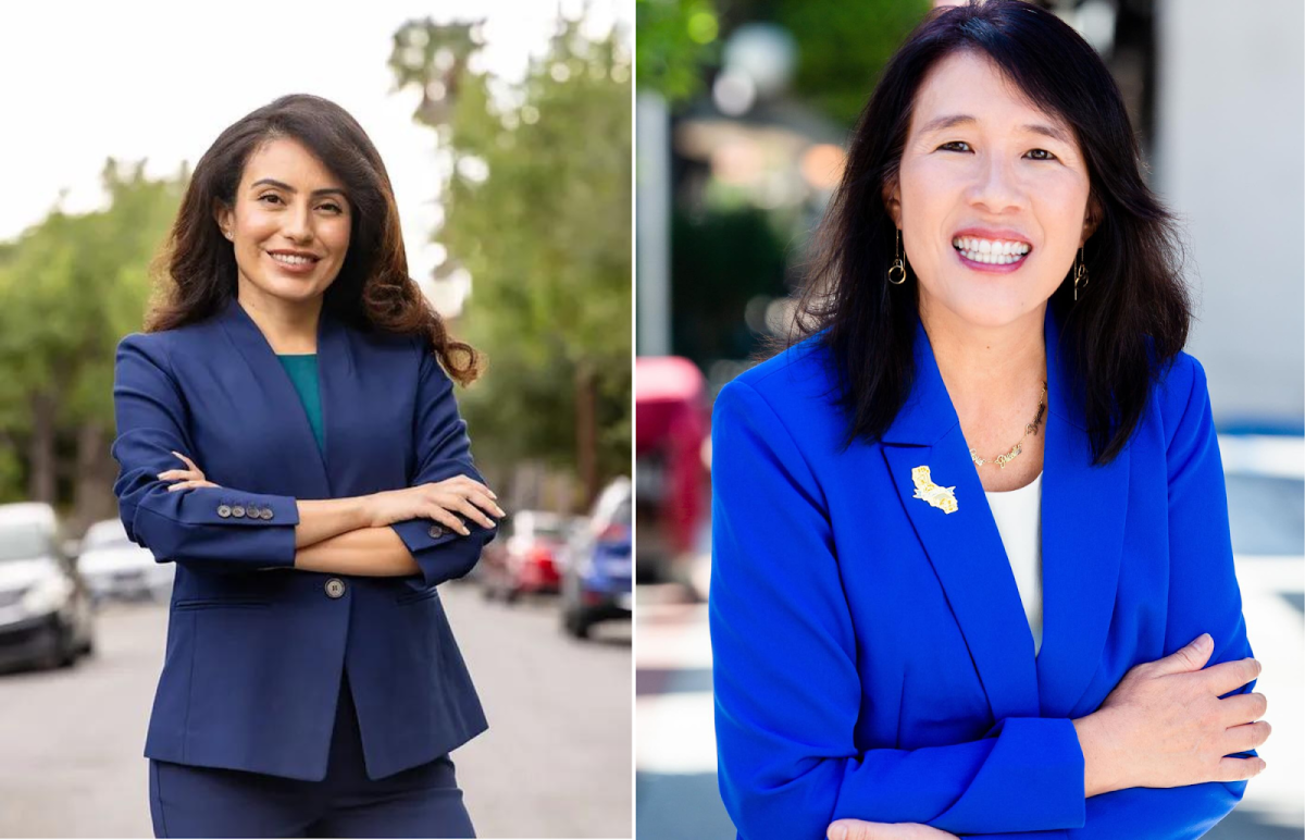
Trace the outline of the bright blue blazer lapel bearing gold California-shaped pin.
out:
M 993 719 L 1036 716 L 1034 638 L 960 422 L 919 320 L 915 384 L 883 444 L 893 485 L 946 592 Z M 915 498 L 911 470 L 916 466 L 928 466 L 934 483 L 955 487 L 955 512 Z

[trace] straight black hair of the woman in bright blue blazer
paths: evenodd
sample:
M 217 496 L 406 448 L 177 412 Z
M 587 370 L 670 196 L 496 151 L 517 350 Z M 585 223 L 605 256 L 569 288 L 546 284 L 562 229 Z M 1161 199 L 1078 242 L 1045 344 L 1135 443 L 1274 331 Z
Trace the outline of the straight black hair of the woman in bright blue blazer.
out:
M 921 80 L 941 59 L 970 50 L 992 59 L 1028 99 L 1067 123 L 1091 182 L 1098 226 L 1083 250 L 1090 285 L 1073 299 L 1066 276 L 1048 306 L 1087 415 L 1094 464 L 1128 444 L 1152 383 L 1184 347 L 1191 303 L 1182 244 L 1169 212 L 1142 179 L 1118 88 L 1070 26 L 1021 0 L 932 12 L 883 71 L 848 149 L 842 182 L 814 239 L 793 331 L 820 333 L 838 371 L 844 444 L 874 442 L 906 402 L 915 378 L 917 283 L 889 286 L 897 225 L 885 195 L 898 165 Z

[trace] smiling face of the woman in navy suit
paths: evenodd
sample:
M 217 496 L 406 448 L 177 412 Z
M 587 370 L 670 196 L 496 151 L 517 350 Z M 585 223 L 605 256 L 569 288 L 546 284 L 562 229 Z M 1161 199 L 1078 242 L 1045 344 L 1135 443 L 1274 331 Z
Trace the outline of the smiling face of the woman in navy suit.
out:
M 249 155 L 235 205 L 214 217 L 235 247 L 240 297 L 305 303 L 331 285 L 348 251 L 343 186 L 303 144 L 278 137 Z

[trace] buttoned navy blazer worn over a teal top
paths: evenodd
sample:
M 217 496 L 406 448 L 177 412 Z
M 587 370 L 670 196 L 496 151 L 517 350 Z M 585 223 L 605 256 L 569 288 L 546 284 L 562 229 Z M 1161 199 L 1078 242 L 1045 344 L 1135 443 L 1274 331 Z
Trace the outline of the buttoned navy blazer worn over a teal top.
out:
M 407 577 L 294 568 L 296 499 L 482 479 L 452 381 L 423 341 L 325 308 L 317 364 L 322 449 L 235 300 L 119 344 L 114 491 L 128 536 L 176 563 L 149 758 L 320 781 L 346 669 L 372 779 L 485 729 L 436 585 L 467 573 L 493 529 L 394 524 L 422 568 Z M 168 491 L 158 473 L 185 468 L 171 449 L 221 487 Z

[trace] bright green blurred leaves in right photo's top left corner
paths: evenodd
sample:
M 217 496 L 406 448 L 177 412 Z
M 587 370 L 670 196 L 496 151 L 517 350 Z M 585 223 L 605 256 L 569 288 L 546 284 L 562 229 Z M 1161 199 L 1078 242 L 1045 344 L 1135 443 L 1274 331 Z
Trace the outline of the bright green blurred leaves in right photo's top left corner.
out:
M 716 60 L 720 20 L 713 0 L 636 0 L 638 85 L 669 102 L 697 95 Z

